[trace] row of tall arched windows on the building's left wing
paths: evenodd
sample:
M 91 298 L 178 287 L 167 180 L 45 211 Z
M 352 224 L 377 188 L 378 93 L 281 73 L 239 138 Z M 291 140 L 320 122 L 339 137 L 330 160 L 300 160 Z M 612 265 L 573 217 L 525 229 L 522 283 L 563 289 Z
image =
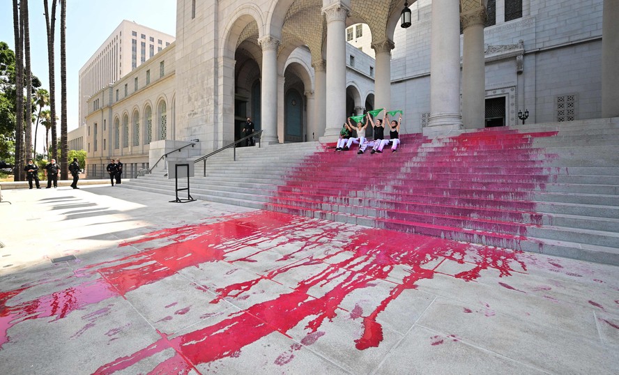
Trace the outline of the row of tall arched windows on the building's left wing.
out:
M 142 121 L 140 121 L 142 119 Z M 140 123 L 144 126 L 143 131 L 140 131 Z M 155 118 L 155 137 L 153 139 L 153 111 L 150 105 L 144 108 L 144 116 L 141 118 L 139 109 L 135 109 L 132 114 L 131 122 L 129 115 L 124 114 L 122 123 L 119 116 L 114 118 L 114 148 L 118 149 L 131 146 L 139 146 L 140 144 L 150 144 L 151 141 L 160 141 L 167 139 L 167 104 L 165 100 L 161 100 L 157 107 L 157 117 Z M 121 125 L 122 124 L 122 125 Z M 130 131 L 131 130 L 131 131 Z M 140 138 L 142 136 L 142 139 Z

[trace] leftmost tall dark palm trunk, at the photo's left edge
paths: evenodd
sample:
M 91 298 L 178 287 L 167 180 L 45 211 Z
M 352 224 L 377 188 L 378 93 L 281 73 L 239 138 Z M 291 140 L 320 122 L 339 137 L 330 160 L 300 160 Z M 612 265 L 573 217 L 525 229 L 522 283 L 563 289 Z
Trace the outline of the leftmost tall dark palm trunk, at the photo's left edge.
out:
M 20 22 L 20 6 L 13 0 L 13 33 L 15 33 L 15 167 L 14 180 L 22 181 L 22 138 L 24 134 L 24 57 L 22 46 L 22 22 Z

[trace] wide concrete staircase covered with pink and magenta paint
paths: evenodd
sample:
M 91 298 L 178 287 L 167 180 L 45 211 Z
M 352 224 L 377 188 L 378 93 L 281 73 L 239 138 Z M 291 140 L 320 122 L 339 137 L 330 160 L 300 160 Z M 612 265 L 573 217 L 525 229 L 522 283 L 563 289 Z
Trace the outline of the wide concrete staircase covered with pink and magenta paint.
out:
M 619 118 L 404 135 L 374 155 L 240 148 L 210 160 L 192 196 L 619 265 L 618 149 Z M 162 176 L 128 187 L 174 194 Z

